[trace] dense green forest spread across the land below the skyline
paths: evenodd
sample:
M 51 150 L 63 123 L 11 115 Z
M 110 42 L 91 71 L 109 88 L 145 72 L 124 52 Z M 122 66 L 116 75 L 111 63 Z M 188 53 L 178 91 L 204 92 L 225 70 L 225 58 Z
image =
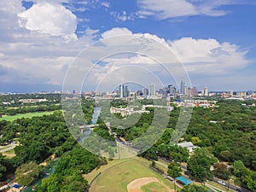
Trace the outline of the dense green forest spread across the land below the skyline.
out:
M 67 116 L 74 116 L 76 122 L 83 123 L 86 119 L 86 122 L 90 123 L 95 103 L 93 100 L 84 98 L 81 99 L 81 103 L 83 115 L 75 116 L 72 110 L 64 113 Z M 143 100 L 139 105 L 152 103 L 153 101 Z M 219 99 L 216 108 L 193 108 L 189 127 L 179 141 L 192 142 L 198 147 L 190 157 L 185 148 L 170 143 L 183 108 L 174 108 L 171 113 L 147 108 L 149 114 L 132 114 L 126 118 L 119 114 L 110 114 L 102 108 L 98 126 L 94 132 L 114 141 L 114 137 L 109 134 L 108 127 L 104 123 L 107 120 L 111 123 L 111 129 L 117 137 L 130 141 L 138 149 L 143 150 L 145 143 L 154 139 L 154 132 L 140 140 L 137 140 L 137 137 L 143 136 L 149 127 L 157 127 L 160 131 L 155 134 L 160 134 L 160 138 L 140 155 L 149 160 L 163 158 L 175 162 L 170 164 L 170 175 L 177 175 L 180 172 L 180 163 L 185 162 L 189 177 L 192 179 L 204 182 L 213 176 L 227 181 L 232 178 L 236 184 L 256 191 L 256 108 L 253 103 L 255 102 Z M 111 106 L 126 107 L 127 103 L 117 100 L 111 102 Z M 159 121 L 154 121 L 154 118 Z M 129 122 L 136 123 L 130 125 Z M 65 121 L 61 111 L 32 119 L 0 121 L 0 143 L 12 141 L 20 143 L 15 148 L 15 157 L 8 159 L 0 155 L 0 179 L 4 180 L 9 174 L 19 175 L 20 172 L 26 172 L 27 167 L 30 166 L 35 167 L 33 177 L 40 177 L 42 170 L 40 167 L 37 168 L 38 164 L 55 154 L 56 157 L 60 157 L 55 172 L 44 180 L 38 191 L 46 191 L 46 188 L 47 190 L 54 188 L 54 185 L 57 186 L 60 183 L 63 189 L 53 191 L 75 189 L 75 186 L 65 184 L 71 180 L 85 189 L 88 183 L 82 179 L 83 174 L 106 163 L 106 160 L 89 152 L 81 153 L 84 148 L 76 144 L 67 125 L 73 125 L 73 120 Z M 76 126 L 73 131 L 77 131 Z M 79 132 L 76 134 L 79 138 Z M 113 156 L 114 151 L 109 149 L 108 153 Z M 80 160 L 85 160 L 86 163 L 81 163 Z M 78 168 L 73 169 L 73 167 Z M 27 181 L 31 183 L 31 180 Z

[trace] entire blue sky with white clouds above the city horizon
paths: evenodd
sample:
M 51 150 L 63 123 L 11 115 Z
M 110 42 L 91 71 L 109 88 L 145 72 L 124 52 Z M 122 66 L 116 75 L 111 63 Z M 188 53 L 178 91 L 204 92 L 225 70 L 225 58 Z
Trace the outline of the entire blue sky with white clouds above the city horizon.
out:
M 0 92 L 180 79 L 256 90 L 255 24 L 254 0 L 1 0 Z

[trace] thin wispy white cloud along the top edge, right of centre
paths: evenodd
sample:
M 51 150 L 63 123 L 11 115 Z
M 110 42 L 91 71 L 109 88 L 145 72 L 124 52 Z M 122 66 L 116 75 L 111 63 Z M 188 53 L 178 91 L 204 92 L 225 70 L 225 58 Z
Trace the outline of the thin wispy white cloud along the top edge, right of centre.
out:
M 160 20 L 191 16 L 191 15 L 209 15 L 222 16 L 229 12 L 219 9 L 223 5 L 232 5 L 240 3 L 252 3 L 252 1 L 242 0 L 138 0 L 139 11 L 137 15 L 145 18 L 152 15 Z

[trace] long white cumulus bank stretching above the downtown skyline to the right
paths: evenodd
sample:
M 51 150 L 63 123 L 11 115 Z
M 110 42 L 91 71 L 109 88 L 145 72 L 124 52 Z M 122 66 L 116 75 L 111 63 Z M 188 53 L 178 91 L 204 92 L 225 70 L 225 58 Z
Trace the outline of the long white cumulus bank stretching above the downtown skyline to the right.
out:
M 116 79 L 122 82 L 133 77 L 131 72 L 137 74 L 138 82 L 151 80 L 145 72 L 153 73 L 162 81 L 168 82 L 168 68 L 172 75 L 178 76 L 176 80 L 180 82 L 186 75 L 184 71 L 189 75 L 230 75 L 238 68 L 247 67 L 249 63 L 246 59 L 247 51 L 241 51 L 236 44 L 220 43 L 213 38 L 166 41 L 149 33 L 134 34 L 126 28 L 113 28 L 102 34 L 102 43 L 105 46 L 95 47 L 86 58 L 90 55 L 102 58 L 92 69 L 90 84 L 103 82 L 105 87 L 113 82 L 117 84 Z M 131 50 L 133 52 L 129 52 Z M 93 61 L 92 58 L 90 60 Z

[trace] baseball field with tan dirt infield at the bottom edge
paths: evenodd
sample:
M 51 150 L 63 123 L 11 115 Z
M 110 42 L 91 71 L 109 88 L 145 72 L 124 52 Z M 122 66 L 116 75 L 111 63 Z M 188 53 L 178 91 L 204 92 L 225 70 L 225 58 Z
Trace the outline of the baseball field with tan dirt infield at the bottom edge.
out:
M 138 189 L 144 186 L 142 188 L 143 192 L 154 191 L 151 189 L 156 186 L 159 186 L 160 189 L 165 189 L 162 192 L 169 192 L 173 189 L 171 182 L 149 168 L 151 162 L 148 160 L 134 157 L 126 160 L 113 160 L 110 163 L 112 165 L 102 167 L 102 170 L 100 168 L 98 171 L 93 171 L 101 172 L 102 174 L 92 183 L 90 192 L 127 192 L 128 185 L 131 189 L 132 186 L 135 186 L 134 188 L 139 186 Z M 92 174 L 96 175 L 93 172 L 84 176 L 89 182 L 92 179 Z M 151 180 L 148 182 L 147 179 Z M 139 181 L 140 184 L 136 180 L 141 180 Z M 145 183 L 145 185 L 142 183 Z M 150 185 L 151 183 L 152 185 Z M 140 191 L 138 189 L 129 191 Z

